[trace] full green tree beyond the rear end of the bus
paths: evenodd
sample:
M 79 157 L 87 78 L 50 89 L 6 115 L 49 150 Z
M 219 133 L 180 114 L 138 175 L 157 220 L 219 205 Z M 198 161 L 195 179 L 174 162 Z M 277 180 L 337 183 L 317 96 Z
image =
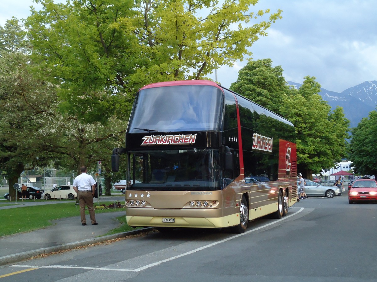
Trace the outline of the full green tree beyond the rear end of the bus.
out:
M 343 108 L 331 107 L 318 94 L 320 84 L 315 77 L 306 76 L 302 86 L 291 89 L 293 95 L 280 108 L 297 132 L 297 171 L 310 177 L 334 167 L 346 154 L 349 121 Z

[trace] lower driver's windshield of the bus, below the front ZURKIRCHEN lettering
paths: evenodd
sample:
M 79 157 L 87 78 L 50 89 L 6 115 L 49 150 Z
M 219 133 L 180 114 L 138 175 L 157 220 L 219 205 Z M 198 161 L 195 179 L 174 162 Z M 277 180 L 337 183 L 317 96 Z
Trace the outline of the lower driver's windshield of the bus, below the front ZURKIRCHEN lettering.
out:
M 127 190 L 221 190 L 219 150 L 129 152 L 131 187 Z

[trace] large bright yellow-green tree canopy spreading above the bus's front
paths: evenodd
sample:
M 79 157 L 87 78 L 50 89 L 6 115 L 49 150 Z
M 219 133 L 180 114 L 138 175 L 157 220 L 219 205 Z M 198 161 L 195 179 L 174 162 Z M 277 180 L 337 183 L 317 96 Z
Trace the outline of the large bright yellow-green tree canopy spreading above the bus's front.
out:
M 151 82 L 201 79 L 232 65 L 280 18 L 251 23 L 257 0 L 36 0 L 26 21 L 43 76 L 60 85 L 60 108 L 84 123 L 128 116 Z M 199 16 L 201 15 L 201 16 Z

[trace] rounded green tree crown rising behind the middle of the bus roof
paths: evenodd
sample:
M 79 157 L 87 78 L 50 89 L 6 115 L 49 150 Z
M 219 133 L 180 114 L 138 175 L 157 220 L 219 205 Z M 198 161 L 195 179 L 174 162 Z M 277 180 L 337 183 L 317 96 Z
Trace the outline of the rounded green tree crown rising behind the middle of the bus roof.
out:
M 249 61 L 230 89 L 277 114 L 290 92 L 282 67 L 272 67 L 271 59 Z

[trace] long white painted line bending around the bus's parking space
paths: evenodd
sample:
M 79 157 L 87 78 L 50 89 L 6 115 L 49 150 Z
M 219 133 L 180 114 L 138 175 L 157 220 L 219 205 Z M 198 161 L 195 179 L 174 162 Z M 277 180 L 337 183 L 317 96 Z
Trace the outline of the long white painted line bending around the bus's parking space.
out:
M 290 215 L 287 215 L 285 217 L 282 217 L 280 218 L 279 220 L 275 220 L 273 222 L 270 222 L 270 223 L 267 223 L 263 226 L 259 226 L 257 228 L 254 228 L 254 229 L 251 229 L 251 230 L 248 230 L 244 233 L 241 233 L 241 234 L 237 234 L 237 235 L 234 235 L 232 237 L 229 237 L 229 238 L 226 238 L 224 240 L 221 240 L 221 241 L 217 241 L 217 242 L 214 242 L 214 243 L 211 243 L 211 244 L 208 244 L 208 245 L 205 245 L 203 247 L 200 247 L 200 248 L 197 248 L 195 250 L 191 250 L 189 252 L 185 252 L 185 253 L 182 253 L 181 255 L 178 255 L 178 256 L 172 256 L 170 258 L 167 258 L 167 259 L 163 259 L 161 261 L 158 261 L 158 262 L 154 262 L 152 264 L 147 264 L 147 265 L 144 265 L 142 267 L 139 267 L 139 268 L 136 268 L 136 269 L 122 269 L 122 268 L 106 268 L 106 267 L 81 267 L 81 266 L 74 266 L 74 265 L 48 265 L 48 266 L 35 266 L 35 265 L 11 265 L 12 267 L 27 267 L 27 268 L 74 268 L 74 269 L 88 269 L 88 270 L 108 270 L 108 271 L 128 271 L 128 272 L 139 272 L 139 271 L 142 271 L 142 270 L 146 270 L 147 268 L 150 268 L 150 267 L 153 267 L 153 266 L 156 266 L 156 265 L 159 265 L 159 264 L 162 264 L 164 262 L 168 262 L 168 261 L 172 261 L 173 259 L 177 259 L 177 258 L 181 258 L 182 256 L 187 256 L 187 255 L 191 255 L 192 253 L 196 253 L 196 252 L 199 252 L 201 250 L 204 250 L 204 249 L 207 249 L 209 247 L 212 247 L 212 246 L 215 246 L 217 244 L 221 244 L 221 243 L 224 243 L 226 241 L 229 241 L 229 240 L 232 240 L 234 238 L 238 238 L 238 237 L 241 237 L 243 235 L 246 235 L 248 233 L 251 233 L 251 232 L 254 232 L 254 231 L 257 231 L 257 230 L 260 230 L 262 228 L 265 228 L 267 226 L 270 226 L 272 224 L 275 224 L 275 223 L 278 223 L 279 221 L 282 221 L 282 220 L 285 220 L 286 218 L 289 218 L 289 217 L 292 217 L 293 215 L 296 215 L 298 214 L 299 212 L 302 212 L 304 210 L 304 208 L 300 208 L 297 212 L 295 212 L 294 214 L 290 214 Z

